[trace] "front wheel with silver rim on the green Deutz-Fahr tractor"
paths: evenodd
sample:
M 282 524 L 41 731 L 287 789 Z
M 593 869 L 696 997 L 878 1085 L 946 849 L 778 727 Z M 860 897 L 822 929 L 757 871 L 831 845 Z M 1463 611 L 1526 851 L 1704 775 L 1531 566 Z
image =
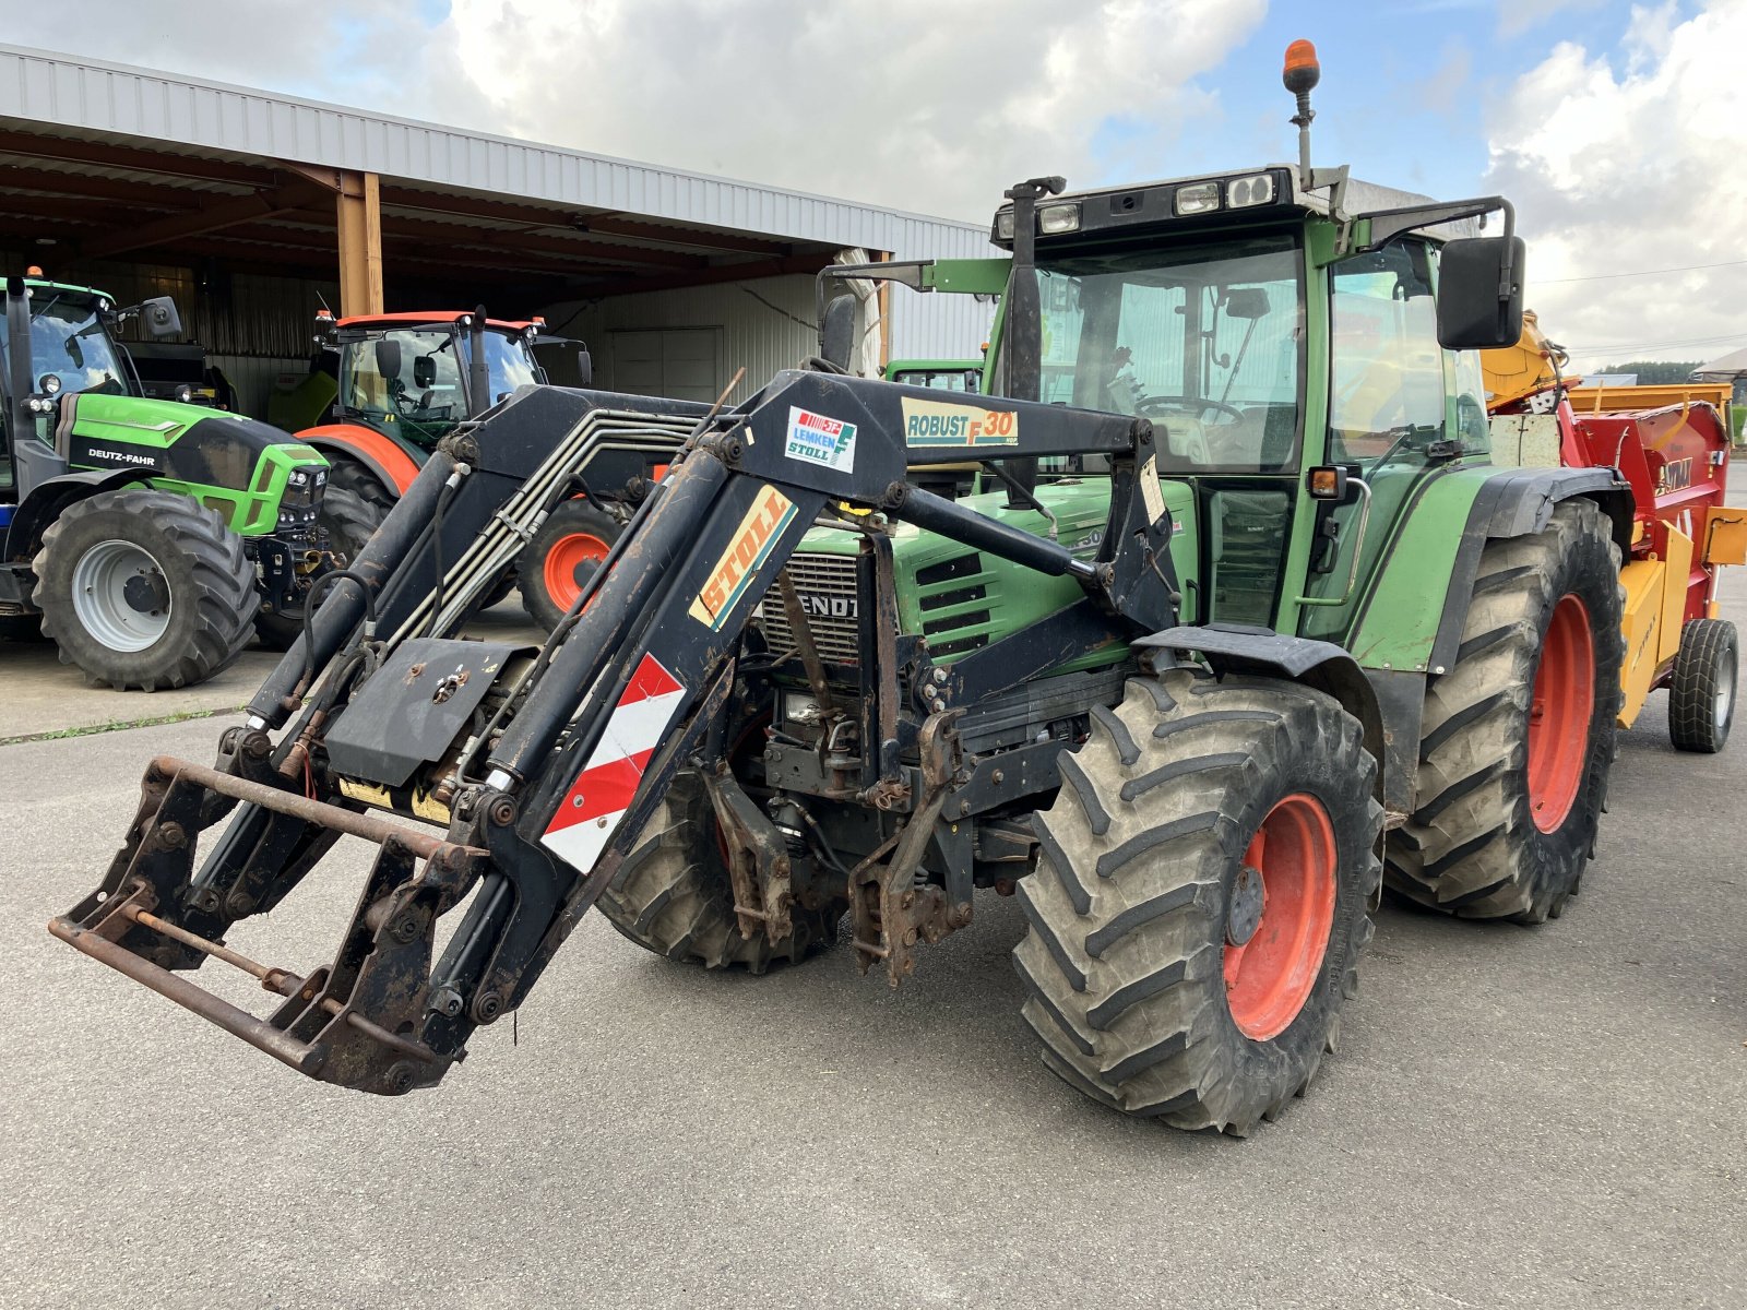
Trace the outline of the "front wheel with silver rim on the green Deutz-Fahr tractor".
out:
M 42 631 L 98 685 L 204 681 L 255 620 L 255 569 L 213 510 L 168 491 L 101 491 L 61 512 L 31 561 Z

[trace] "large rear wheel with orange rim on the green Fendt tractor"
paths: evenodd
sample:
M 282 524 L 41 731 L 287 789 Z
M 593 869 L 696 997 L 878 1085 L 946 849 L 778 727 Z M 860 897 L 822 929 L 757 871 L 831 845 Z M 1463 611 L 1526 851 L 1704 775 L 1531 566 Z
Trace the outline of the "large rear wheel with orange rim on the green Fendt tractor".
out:
M 1621 604 L 1619 548 L 1592 501 L 1485 547 L 1455 667 L 1427 685 L 1396 891 L 1467 919 L 1560 915 L 1607 800 Z

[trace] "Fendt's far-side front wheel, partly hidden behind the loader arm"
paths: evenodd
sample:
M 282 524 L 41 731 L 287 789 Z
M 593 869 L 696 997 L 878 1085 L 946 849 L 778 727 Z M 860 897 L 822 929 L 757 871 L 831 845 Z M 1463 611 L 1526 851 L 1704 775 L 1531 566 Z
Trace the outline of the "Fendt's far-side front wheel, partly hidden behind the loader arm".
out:
M 774 961 L 798 964 L 837 941 L 837 920 L 849 907 L 835 900 L 816 910 L 793 908 L 795 929 L 772 943 L 763 933 L 746 940 L 734 915 L 734 889 L 716 837 L 709 795 L 694 772 L 674 777 L 660 809 L 643 830 L 597 908 L 624 936 L 667 959 L 706 969 L 763 973 Z

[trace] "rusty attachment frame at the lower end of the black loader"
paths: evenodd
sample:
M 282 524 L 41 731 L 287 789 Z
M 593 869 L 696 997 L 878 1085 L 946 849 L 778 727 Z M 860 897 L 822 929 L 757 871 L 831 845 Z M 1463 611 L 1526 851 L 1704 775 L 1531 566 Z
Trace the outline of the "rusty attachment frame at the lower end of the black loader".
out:
M 299 861 L 299 875 L 342 833 L 377 845 L 351 926 L 330 964 L 297 975 L 259 964 L 215 940 L 255 903 L 271 905 L 290 889 L 238 887 L 222 901 L 203 894 L 192 877 L 197 835 L 224 817 L 225 802 L 269 812 L 262 844 L 281 840 L 285 831 L 307 833 L 314 824 L 320 835 Z M 280 833 L 274 819 L 281 821 Z M 487 865 L 487 852 L 477 847 L 266 781 L 159 756 L 145 772 L 128 844 L 103 884 L 70 914 L 52 919 L 49 931 L 299 1072 L 398 1095 L 435 1083 L 463 1053 L 458 1041 L 433 1045 L 435 1038 L 449 1036 L 440 1029 L 459 1011 L 454 1006 L 456 1013 L 445 1013 L 444 997 L 435 1004 L 430 997 L 435 924 Z M 208 957 L 259 978 L 281 997 L 280 1006 L 259 1018 L 175 973 Z

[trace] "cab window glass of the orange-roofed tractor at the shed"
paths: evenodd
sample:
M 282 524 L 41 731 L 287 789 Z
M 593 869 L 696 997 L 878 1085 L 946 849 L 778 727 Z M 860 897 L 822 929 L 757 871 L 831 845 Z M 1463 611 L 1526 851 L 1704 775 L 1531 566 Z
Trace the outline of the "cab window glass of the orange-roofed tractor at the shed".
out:
M 384 360 L 376 337 L 346 349 L 341 395 L 348 409 L 437 437 L 466 417 L 466 369 L 472 358 L 468 334 L 449 328 L 395 328 L 381 339 L 400 346 L 398 363 Z M 391 374 L 383 372 L 384 363 L 393 367 Z M 486 334 L 486 369 L 491 391 L 487 405 L 538 381 L 526 344 L 521 337 L 501 332 Z

